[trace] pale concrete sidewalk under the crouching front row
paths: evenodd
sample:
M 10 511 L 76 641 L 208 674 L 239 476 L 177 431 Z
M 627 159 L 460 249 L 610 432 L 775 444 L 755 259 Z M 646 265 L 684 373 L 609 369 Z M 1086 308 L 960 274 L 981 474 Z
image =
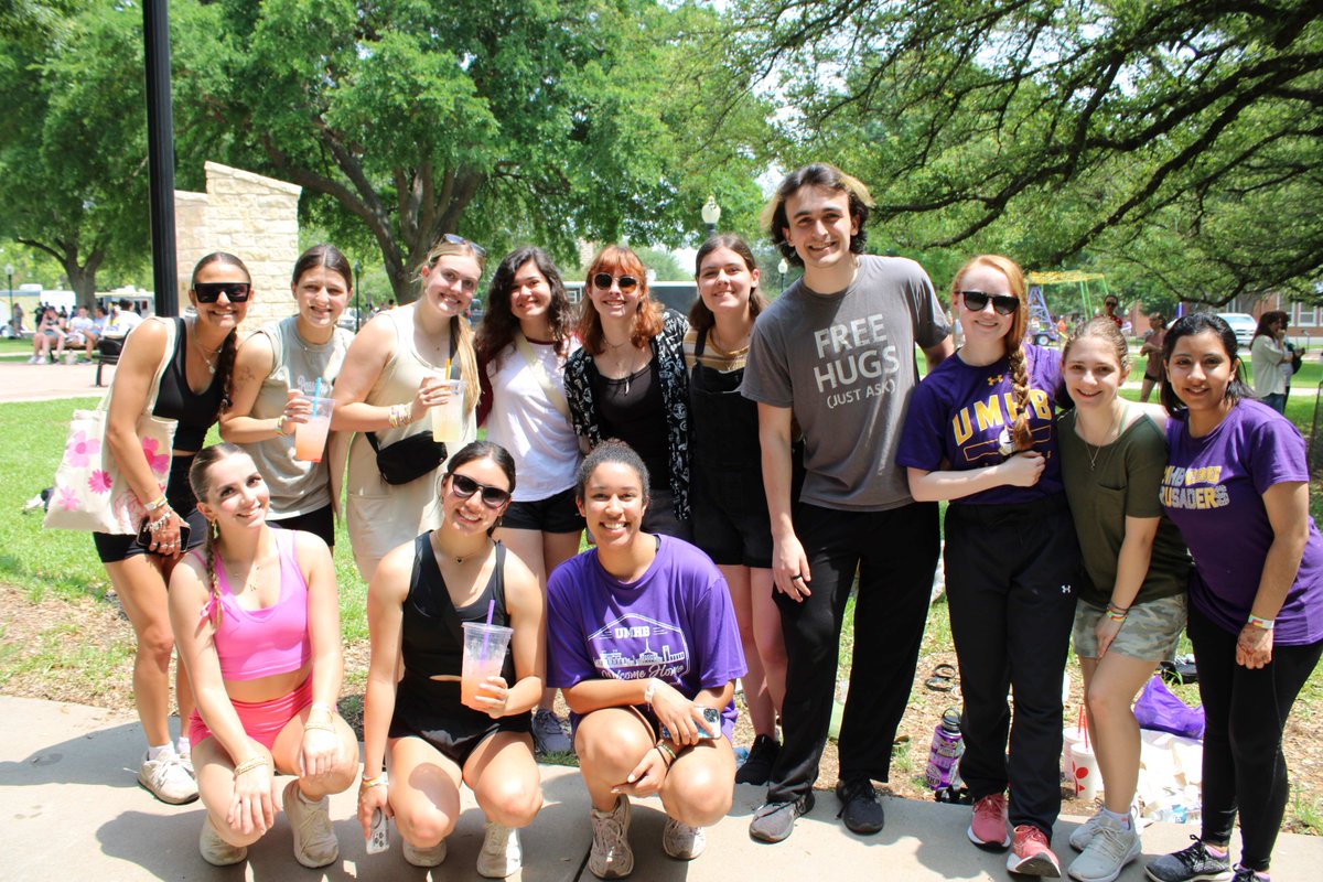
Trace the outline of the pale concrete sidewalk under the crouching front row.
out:
M 368 857 L 353 817 L 356 788 L 332 797 L 331 817 L 340 837 L 340 860 L 323 870 L 295 863 L 283 820 L 249 849 L 235 867 L 212 867 L 198 857 L 201 804 L 171 807 L 153 800 L 135 779 L 143 750 L 132 717 L 48 701 L 0 697 L 0 878 L 138 879 L 476 879 L 482 816 L 464 791 L 464 815 L 450 837 L 446 862 L 431 871 L 392 848 Z M 528 882 L 591 882 L 586 869 L 590 833 L 587 795 L 573 768 L 542 767 L 546 805 L 524 830 Z M 658 800 L 639 800 L 630 841 L 634 879 L 642 882 L 730 882 L 732 879 L 1007 879 L 1004 856 L 975 849 L 966 840 L 968 809 L 914 800 L 886 800 L 886 829 L 856 837 L 835 819 L 836 799 L 819 793 L 818 807 L 794 836 L 775 846 L 753 842 L 749 815 L 762 788 L 738 787 L 732 817 L 708 830 L 708 850 L 696 861 L 672 861 L 662 852 L 665 817 Z M 1066 836 L 1080 819 L 1062 819 L 1054 841 L 1064 861 L 1073 857 Z M 1144 832 L 1144 856 L 1188 845 L 1195 826 L 1156 824 Z M 1136 861 L 1122 882 L 1144 878 Z M 1282 836 L 1273 878 L 1319 878 L 1323 838 Z M 1314 867 L 1312 870 L 1310 867 Z

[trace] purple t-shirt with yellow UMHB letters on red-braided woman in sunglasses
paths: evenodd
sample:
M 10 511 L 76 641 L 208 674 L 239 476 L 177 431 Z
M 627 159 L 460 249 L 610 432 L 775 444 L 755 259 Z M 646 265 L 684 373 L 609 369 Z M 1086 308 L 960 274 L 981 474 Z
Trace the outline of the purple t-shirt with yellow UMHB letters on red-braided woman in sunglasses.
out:
M 1046 464 L 1033 487 L 994 487 L 955 502 L 1005 505 L 1035 502 L 1064 489 L 1053 411 L 1061 385 L 1061 353 L 1024 345 L 1029 374 L 1029 431 Z M 929 472 L 987 468 L 1013 451 L 1015 389 L 1005 358 L 967 365 L 959 353 L 945 360 L 914 390 L 896 461 Z

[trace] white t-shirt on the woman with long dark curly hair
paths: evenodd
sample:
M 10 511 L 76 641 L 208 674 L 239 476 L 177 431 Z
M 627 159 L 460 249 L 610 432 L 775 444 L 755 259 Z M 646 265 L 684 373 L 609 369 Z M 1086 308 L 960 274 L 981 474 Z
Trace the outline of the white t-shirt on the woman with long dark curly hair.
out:
M 531 341 L 531 345 L 552 383 L 564 394 L 565 358 L 557 356 L 553 344 Z M 572 340 L 565 356 L 578 348 L 578 341 Z M 492 386 L 487 440 L 515 458 L 515 501 L 544 500 L 574 487 L 579 463 L 574 427 L 569 417 L 556 410 L 513 344 L 487 365 L 487 378 Z

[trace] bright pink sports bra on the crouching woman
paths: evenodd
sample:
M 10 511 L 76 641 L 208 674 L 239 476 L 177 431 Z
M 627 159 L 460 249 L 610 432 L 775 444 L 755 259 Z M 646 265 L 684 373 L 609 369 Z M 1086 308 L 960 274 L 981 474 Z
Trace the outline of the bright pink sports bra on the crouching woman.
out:
M 280 558 L 280 599 L 265 610 L 245 610 L 230 591 L 225 566 L 217 555 L 216 582 L 221 624 L 216 655 L 225 680 L 257 680 L 299 670 L 312 659 L 308 639 L 308 583 L 294 557 L 294 533 L 271 530 Z M 202 607 L 209 615 L 212 603 Z

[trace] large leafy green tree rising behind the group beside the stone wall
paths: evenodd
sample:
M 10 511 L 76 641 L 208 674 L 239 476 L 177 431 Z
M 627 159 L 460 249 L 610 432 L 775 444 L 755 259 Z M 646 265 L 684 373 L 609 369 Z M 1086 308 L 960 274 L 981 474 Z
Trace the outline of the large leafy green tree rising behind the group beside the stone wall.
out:
M 173 4 L 179 8 L 181 4 Z M 221 0 L 179 107 L 234 164 L 302 185 L 337 235 L 366 229 L 396 299 L 443 233 L 497 250 L 679 245 L 709 190 L 751 217 L 765 116 L 720 120 L 710 11 L 647 0 Z M 218 46 L 221 52 L 212 52 Z M 716 124 L 720 123 L 720 124 Z

